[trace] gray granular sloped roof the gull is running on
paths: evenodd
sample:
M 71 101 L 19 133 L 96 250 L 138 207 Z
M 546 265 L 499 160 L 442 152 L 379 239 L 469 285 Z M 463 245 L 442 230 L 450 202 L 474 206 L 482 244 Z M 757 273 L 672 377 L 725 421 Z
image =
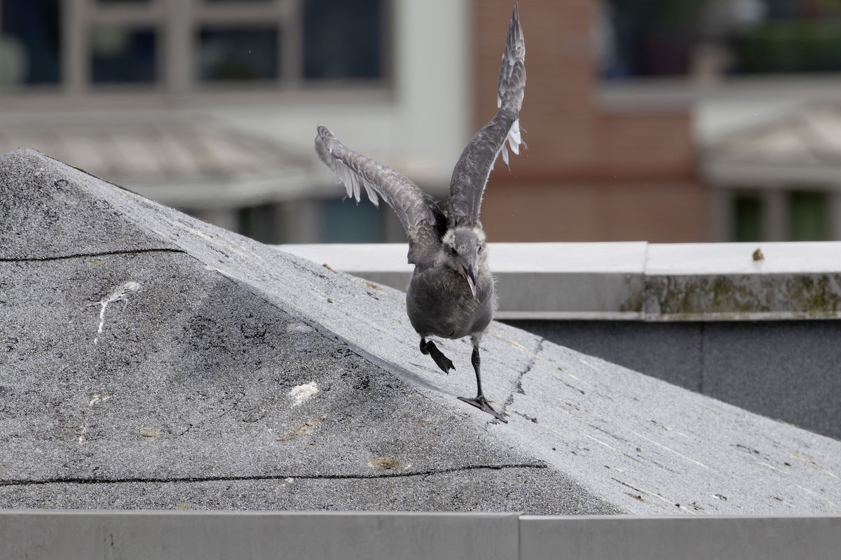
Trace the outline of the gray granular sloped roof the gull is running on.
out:
M 828 437 L 500 323 L 496 423 L 455 398 L 469 342 L 442 374 L 397 290 L 33 150 L 0 158 L 0 201 L 0 507 L 841 511 Z

